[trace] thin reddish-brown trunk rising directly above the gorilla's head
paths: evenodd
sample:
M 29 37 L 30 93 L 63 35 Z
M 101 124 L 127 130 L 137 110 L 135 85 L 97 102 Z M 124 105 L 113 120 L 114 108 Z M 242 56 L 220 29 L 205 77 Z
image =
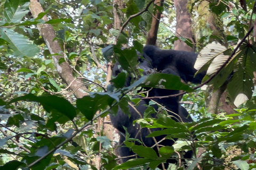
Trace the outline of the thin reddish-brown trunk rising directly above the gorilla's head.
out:
M 164 0 L 155 0 L 154 4 L 158 6 L 163 6 Z M 148 32 L 147 36 L 147 43 L 148 45 L 156 45 L 156 40 L 157 40 L 157 31 L 159 27 L 159 20 L 161 18 L 162 12 L 159 12 L 156 10 L 156 14 L 152 18 L 152 23 L 151 23 L 151 28 Z

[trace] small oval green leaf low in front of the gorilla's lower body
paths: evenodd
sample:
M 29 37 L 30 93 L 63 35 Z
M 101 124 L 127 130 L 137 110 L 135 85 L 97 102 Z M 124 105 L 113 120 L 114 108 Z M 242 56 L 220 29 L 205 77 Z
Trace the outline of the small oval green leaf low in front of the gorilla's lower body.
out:
M 156 159 L 157 154 L 153 148 L 135 145 L 132 147 L 132 151 L 138 154 L 140 157 Z

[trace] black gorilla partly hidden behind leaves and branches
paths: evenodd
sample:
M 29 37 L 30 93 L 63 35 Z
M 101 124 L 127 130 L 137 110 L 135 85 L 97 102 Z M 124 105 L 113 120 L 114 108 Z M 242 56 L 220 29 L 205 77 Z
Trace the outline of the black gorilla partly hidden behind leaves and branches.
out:
M 183 52 L 183 51 L 177 51 L 177 50 L 161 50 L 158 49 L 155 46 L 146 46 L 143 49 L 143 57 L 146 60 L 140 60 L 140 68 L 144 70 L 143 74 L 148 74 L 148 72 L 154 72 L 153 68 L 157 69 L 157 71 L 162 71 L 162 73 L 166 74 L 173 74 L 178 75 L 181 77 L 184 81 L 190 81 L 194 83 L 199 83 L 202 81 L 202 78 L 204 77 L 204 73 L 198 74 L 194 78 L 194 74 L 196 73 L 196 70 L 194 69 L 194 63 L 196 61 L 197 54 L 195 53 L 189 53 L 189 52 Z M 183 63 L 182 63 L 183 62 Z M 114 66 L 113 69 L 113 75 L 116 76 L 119 72 L 122 71 L 122 68 L 119 67 L 118 63 Z M 130 86 L 131 83 L 131 77 L 128 77 L 125 82 L 125 86 Z M 146 89 L 149 90 L 149 89 Z M 178 90 L 167 90 L 167 89 L 158 89 L 153 88 L 149 91 L 149 97 L 153 96 L 167 96 L 167 95 L 174 95 L 178 94 Z M 139 98 L 139 96 L 137 96 Z M 171 97 L 171 98 L 163 98 L 163 99 L 154 99 L 156 103 L 161 104 L 165 106 L 165 108 L 171 112 L 174 112 L 175 114 L 168 112 L 169 115 L 172 115 L 173 120 L 175 121 L 183 121 L 183 122 L 193 122 L 192 118 L 189 116 L 189 113 L 185 108 L 183 108 L 179 104 L 178 97 Z M 143 114 L 145 110 L 147 109 L 147 106 L 149 104 L 149 100 L 142 100 L 140 101 L 139 105 L 136 107 L 137 111 L 141 114 L 143 117 Z M 157 105 L 153 105 L 155 110 L 158 110 Z M 120 141 L 119 143 L 124 146 L 123 142 L 125 141 L 125 128 L 127 128 L 127 132 L 130 134 L 130 138 L 139 139 L 143 142 L 143 145 L 146 145 L 147 147 L 151 147 L 155 145 L 155 141 L 153 138 L 146 138 L 149 134 L 149 131 L 147 128 L 140 128 L 140 126 L 135 123 L 133 125 L 133 121 L 138 120 L 140 115 L 132 108 L 129 107 L 129 112 L 131 113 L 131 116 L 125 115 L 122 110 L 119 108 L 116 115 L 110 115 L 111 122 L 113 126 L 120 132 Z M 156 114 L 151 114 L 151 116 L 156 117 Z M 181 119 L 181 120 L 180 120 Z M 156 129 L 150 129 L 151 132 L 153 131 L 159 131 L 160 128 Z M 164 136 L 155 137 L 156 141 L 160 141 L 164 138 Z M 173 140 L 163 140 L 159 145 L 162 146 L 172 146 L 174 143 Z M 138 145 L 138 143 L 136 143 Z M 154 148 L 157 152 L 157 148 Z M 121 147 L 118 148 L 119 156 L 121 157 L 127 157 L 134 155 L 134 153 L 127 147 Z M 185 158 L 190 158 L 192 152 L 188 151 L 185 154 Z M 135 157 L 127 157 L 123 158 L 122 161 L 126 162 L 127 160 L 135 158 Z M 174 160 L 167 160 L 167 163 L 177 163 Z M 165 165 L 166 168 L 168 164 Z M 161 166 L 159 166 L 161 168 Z

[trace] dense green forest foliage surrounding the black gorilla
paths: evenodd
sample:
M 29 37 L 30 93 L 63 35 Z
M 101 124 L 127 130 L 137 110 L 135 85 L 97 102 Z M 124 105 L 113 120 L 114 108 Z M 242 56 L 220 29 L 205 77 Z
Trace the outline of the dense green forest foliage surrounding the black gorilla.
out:
M 157 156 L 151 148 L 135 146 L 127 134 L 126 146 L 141 158 L 123 164 L 118 164 L 113 143 L 103 133 L 102 122 L 108 122 L 98 121 L 99 118 L 106 120 L 107 114 L 115 113 L 118 106 L 129 114 L 128 103 L 139 102 L 132 95 L 146 86 L 158 87 L 155 80 L 165 79 L 165 88 L 177 89 L 177 84 L 171 83 L 171 76 L 161 73 L 141 76 L 142 70 L 135 69 L 137 51 L 142 52 L 151 14 L 155 13 L 154 5 L 124 25 L 150 1 L 124 1 L 123 8 L 113 5 L 110 0 L 39 1 L 45 12 L 37 18 L 30 12 L 32 6 L 29 10 L 32 2 L 5 0 L 0 3 L 0 169 L 147 169 L 148 166 L 155 169 L 175 152 L 186 150 L 193 150 L 193 158 L 186 160 L 187 169 L 256 168 L 256 98 L 253 94 L 256 44 L 252 33 L 247 34 L 252 31 L 255 20 L 253 1 L 246 1 L 243 8 L 237 1 L 211 2 L 209 10 L 225 24 L 229 49 L 221 50 L 222 47 L 216 45 L 215 49 L 223 59 L 214 61 L 216 56 L 212 55 L 202 62 L 206 65 L 203 70 L 212 63 L 209 72 L 216 75 L 210 83 L 215 89 L 230 79 L 230 100 L 238 104 L 250 100 L 240 105 L 234 114 L 228 115 L 221 110 L 219 114 L 211 114 L 207 113 L 208 105 L 205 105 L 202 91 L 178 82 L 180 90 L 189 92 L 183 96 L 183 101 L 193 102 L 185 107 L 195 122 L 177 123 L 164 111 L 159 111 L 163 112 L 159 118 L 145 116 L 138 121 L 141 127 L 166 128 L 150 136 L 166 134 L 166 138 L 179 140 L 173 147 L 162 147 L 159 150 L 161 156 Z M 200 2 L 191 4 L 197 3 Z M 114 8 L 124 25 L 122 33 L 114 28 Z M 163 7 L 157 8 L 163 11 L 158 44 L 169 49 L 178 39 L 171 32 L 173 28 L 167 27 L 170 25 L 167 22 L 171 22 L 175 15 L 173 3 L 166 1 Z M 56 33 L 54 40 L 58 40 L 63 53 L 51 53 L 52 49 L 47 46 L 49 42 L 45 43 L 39 33 L 40 26 L 38 29 L 37 25 L 41 24 L 52 25 Z M 206 32 L 201 38 L 202 47 L 210 44 L 211 38 L 218 38 L 212 37 L 211 33 Z M 123 49 L 123 46 L 128 48 Z M 56 55 L 62 55 L 57 63 L 54 61 Z M 227 60 L 229 62 L 225 63 Z M 116 61 L 125 72 L 112 79 L 107 88 L 107 65 Z M 62 63 L 68 64 L 74 78 L 82 80 L 89 95 L 76 99 L 69 83 L 59 75 L 61 69 L 56 65 Z M 223 69 L 218 71 L 222 64 L 225 64 Z M 124 88 L 128 74 L 133 75 L 134 82 Z M 148 81 L 152 83 L 148 85 Z M 140 95 L 145 97 L 146 93 Z M 151 109 L 149 106 L 146 115 L 152 112 Z M 197 155 L 199 148 L 205 149 L 201 156 Z M 178 168 L 185 167 L 169 167 Z

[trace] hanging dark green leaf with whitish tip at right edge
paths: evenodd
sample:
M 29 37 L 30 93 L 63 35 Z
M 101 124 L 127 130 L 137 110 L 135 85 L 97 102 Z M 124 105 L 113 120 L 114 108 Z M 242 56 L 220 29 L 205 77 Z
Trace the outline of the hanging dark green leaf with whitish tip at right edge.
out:
M 255 64 L 249 56 L 248 47 L 241 52 L 242 57 L 238 60 L 238 65 L 234 77 L 228 84 L 228 92 L 231 98 L 234 99 L 236 106 L 241 105 L 244 101 L 252 97 L 253 92 L 253 71 L 255 71 Z M 255 56 L 254 56 L 255 57 Z

